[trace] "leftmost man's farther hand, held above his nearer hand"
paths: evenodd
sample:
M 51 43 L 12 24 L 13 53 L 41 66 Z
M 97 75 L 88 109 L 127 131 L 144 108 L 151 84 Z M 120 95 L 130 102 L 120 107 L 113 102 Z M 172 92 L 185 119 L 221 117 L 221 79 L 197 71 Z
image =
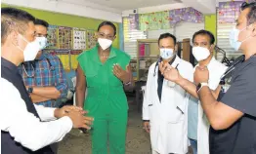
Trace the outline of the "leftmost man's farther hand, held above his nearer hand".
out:
M 76 107 L 73 105 L 66 105 L 62 108 L 57 108 L 55 110 L 55 117 L 56 118 L 62 118 L 64 116 L 67 115 L 68 112 L 70 111 L 76 111 L 76 112 L 80 112 L 82 115 L 86 113 L 86 111 L 84 111 L 81 107 Z

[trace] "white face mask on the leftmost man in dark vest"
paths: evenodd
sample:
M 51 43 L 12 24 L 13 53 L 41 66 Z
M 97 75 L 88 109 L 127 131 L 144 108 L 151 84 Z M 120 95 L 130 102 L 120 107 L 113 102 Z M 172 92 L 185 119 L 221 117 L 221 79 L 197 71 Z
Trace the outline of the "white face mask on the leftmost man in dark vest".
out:
M 21 34 L 20 36 L 27 43 L 24 50 L 22 50 L 21 47 L 18 46 L 18 48 L 23 52 L 24 61 L 34 60 L 37 53 L 40 51 L 39 42 L 37 40 L 34 40 L 33 42 L 28 42 Z

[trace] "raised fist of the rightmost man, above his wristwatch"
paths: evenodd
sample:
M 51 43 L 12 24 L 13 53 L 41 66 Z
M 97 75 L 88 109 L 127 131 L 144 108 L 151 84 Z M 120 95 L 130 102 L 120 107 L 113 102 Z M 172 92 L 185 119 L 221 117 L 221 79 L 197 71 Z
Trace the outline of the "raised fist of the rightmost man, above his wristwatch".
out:
M 199 83 L 208 83 L 209 71 L 206 66 L 197 66 L 193 73 L 193 81 L 196 85 Z

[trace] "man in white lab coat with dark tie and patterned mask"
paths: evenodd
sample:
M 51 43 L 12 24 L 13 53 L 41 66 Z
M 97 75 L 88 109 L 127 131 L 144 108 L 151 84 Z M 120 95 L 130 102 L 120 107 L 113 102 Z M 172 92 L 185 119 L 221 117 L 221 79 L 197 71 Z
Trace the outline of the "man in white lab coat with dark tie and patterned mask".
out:
M 174 82 L 167 81 L 158 69 L 160 61 L 175 67 L 183 78 L 192 81 L 192 64 L 176 55 L 176 37 L 161 34 L 160 57 L 149 67 L 143 103 L 143 120 L 150 134 L 153 154 L 186 154 L 188 152 L 188 100 L 190 95 Z

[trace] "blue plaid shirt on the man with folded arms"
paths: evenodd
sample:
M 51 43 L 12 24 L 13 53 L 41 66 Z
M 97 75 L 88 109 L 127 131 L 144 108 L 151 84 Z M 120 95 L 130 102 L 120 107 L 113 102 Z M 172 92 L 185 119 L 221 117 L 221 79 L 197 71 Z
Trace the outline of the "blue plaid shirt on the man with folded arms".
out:
M 21 76 L 25 86 L 47 87 L 54 86 L 61 92 L 58 100 L 47 100 L 36 104 L 46 107 L 59 107 L 62 98 L 67 95 L 67 83 L 64 66 L 60 58 L 43 53 L 41 58 L 34 61 L 23 62 L 20 65 Z

